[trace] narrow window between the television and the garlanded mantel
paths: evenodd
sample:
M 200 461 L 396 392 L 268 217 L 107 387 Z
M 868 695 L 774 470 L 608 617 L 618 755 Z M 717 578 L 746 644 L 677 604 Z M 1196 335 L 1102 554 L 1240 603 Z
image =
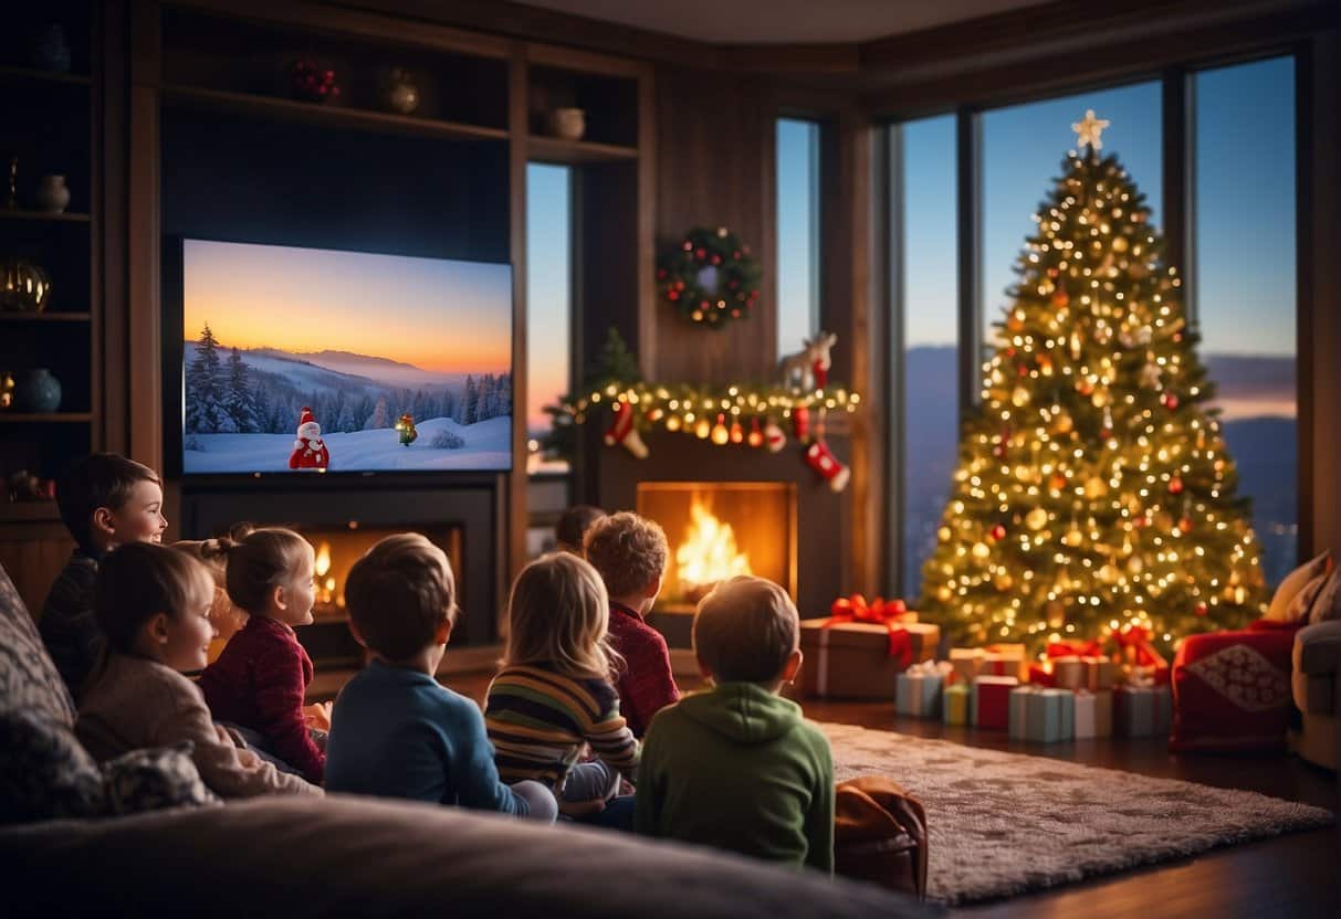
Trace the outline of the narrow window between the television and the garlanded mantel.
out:
M 554 522 L 569 505 L 569 461 L 546 446 L 555 405 L 571 388 L 573 170 L 528 163 L 526 170 L 526 433 L 531 556 L 552 548 Z

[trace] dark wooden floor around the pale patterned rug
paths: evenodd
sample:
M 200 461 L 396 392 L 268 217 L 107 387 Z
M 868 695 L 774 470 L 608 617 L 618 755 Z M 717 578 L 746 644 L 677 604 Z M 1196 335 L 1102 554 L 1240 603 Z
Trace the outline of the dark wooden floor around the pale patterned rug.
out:
M 489 674 L 453 677 L 447 683 L 483 702 Z M 681 687 L 688 681 L 681 678 Z M 1172 756 L 1163 741 L 1075 741 L 1050 746 L 1012 744 L 1002 731 L 945 727 L 920 718 L 898 718 L 885 702 L 806 702 L 806 717 L 970 746 L 1011 750 L 1122 769 L 1160 778 L 1242 788 L 1341 812 L 1337 780 L 1295 757 Z M 1341 833 L 1336 827 L 1215 849 L 1183 861 L 1167 861 L 1108 879 L 1055 891 L 953 910 L 971 916 L 1065 916 L 1106 919 L 1141 916 L 1279 916 L 1341 919 Z

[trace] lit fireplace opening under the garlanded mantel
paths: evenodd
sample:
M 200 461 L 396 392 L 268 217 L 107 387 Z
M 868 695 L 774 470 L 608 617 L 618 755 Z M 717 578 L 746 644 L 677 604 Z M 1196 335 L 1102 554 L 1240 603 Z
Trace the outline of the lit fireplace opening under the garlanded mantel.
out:
M 689 646 L 695 604 L 735 575 L 767 577 L 795 599 L 791 482 L 638 482 L 637 512 L 661 524 L 670 544 L 650 622 L 672 646 Z

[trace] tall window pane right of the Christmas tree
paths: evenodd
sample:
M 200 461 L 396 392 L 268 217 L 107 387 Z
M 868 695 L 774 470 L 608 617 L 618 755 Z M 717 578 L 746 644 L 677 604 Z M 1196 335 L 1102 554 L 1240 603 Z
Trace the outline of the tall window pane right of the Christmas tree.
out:
M 1294 59 L 1192 76 L 1202 358 L 1269 584 L 1297 564 Z

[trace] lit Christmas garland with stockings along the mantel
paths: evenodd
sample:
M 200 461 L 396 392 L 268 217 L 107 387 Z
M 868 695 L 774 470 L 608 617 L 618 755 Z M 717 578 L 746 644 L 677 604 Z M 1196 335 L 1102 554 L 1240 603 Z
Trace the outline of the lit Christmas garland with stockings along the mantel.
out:
M 606 379 L 582 395 L 566 395 L 550 410 L 558 422 L 586 423 L 593 413 L 609 406 L 613 421 L 605 430 L 607 446 L 622 446 L 637 458 L 648 455 L 640 430 L 661 427 L 684 433 L 717 446 L 764 447 L 778 453 L 787 445 L 779 421 L 791 422 L 791 435 L 805 449 L 805 462 L 841 492 L 849 469 L 825 442 L 829 411 L 854 413 L 858 393 L 826 386 L 829 348 L 837 336 L 818 334 L 806 350 L 783 360 L 780 384 L 693 386 Z M 622 344 L 622 342 L 621 342 Z

